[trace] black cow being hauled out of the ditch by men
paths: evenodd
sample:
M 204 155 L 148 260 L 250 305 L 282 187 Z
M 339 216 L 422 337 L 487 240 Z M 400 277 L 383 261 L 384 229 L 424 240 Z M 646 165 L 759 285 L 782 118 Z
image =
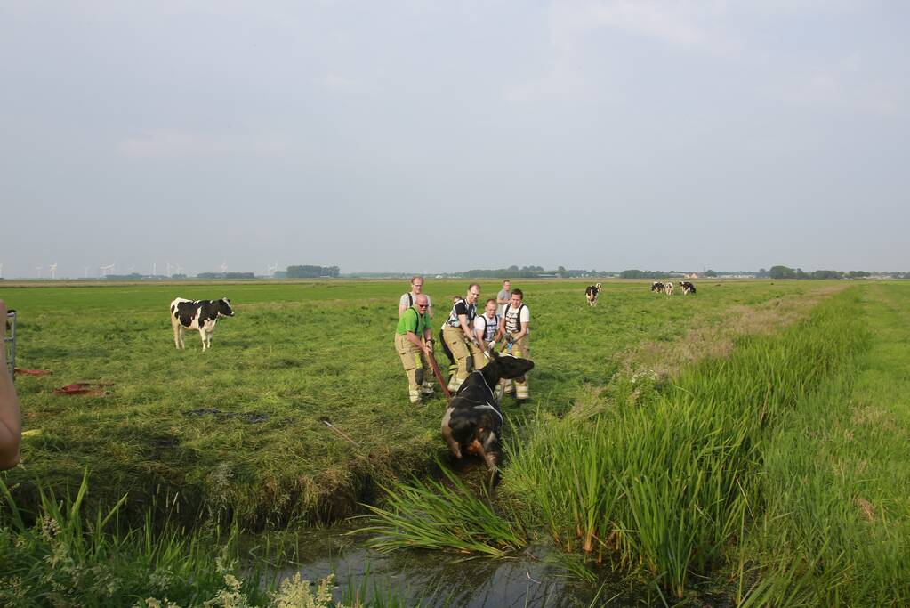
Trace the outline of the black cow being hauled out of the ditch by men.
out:
M 533 367 L 531 360 L 490 351 L 490 362 L 468 374 L 442 417 L 442 437 L 452 455 L 477 454 L 496 471 L 502 462 L 502 411 L 496 399 L 500 380 L 521 380 Z

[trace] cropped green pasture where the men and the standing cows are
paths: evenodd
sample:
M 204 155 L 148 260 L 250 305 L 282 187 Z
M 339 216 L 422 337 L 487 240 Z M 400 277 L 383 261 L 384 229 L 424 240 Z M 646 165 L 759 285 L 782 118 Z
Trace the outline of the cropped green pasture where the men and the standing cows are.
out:
M 437 325 L 467 282 L 428 281 Z M 568 410 L 583 387 L 611 380 L 637 345 L 672 344 L 693 327 L 721 322 L 727 309 L 816 288 L 705 283 L 696 297 L 667 298 L 644 282 L 617 281 L 590 309 L 581 281 L 515 285 L 533 316 L 532 395 L 554 413 Z M 377 497 L 379 483 L 425 474 L 445 453 L 444 401 L 421 410 L 407 404 L 391 346 L 404 289 L 385 281 L 3 286 L 0 297 L 19 311 L 18 365 L 54 372 L 16 380 L 23 465 L 4 479 L 18 502 L 36 504 L 35 480 L 62 492 L 78 486 L 87 467 L 86 501 L 110 505 L 128 492 L 123 516 L 137 521 L 156 496 L 171 498 L 171 517 L 194 522 L 201 513 L 246 528 L 349 515 Z M 499 285 L 482 289 L 485 297 Z M 176 296 L 234 302 L 237 316 L 218 324 L 210 352 L 201 353 L 193 334 L 186 351 L 174 349 L 167 304 Z M 114 386 L 106 397 L 52 393 L 86 380 Z M 185 413 L 199 409 L 266 420 Z M 511 400 L 505 409 L 524 416 Z

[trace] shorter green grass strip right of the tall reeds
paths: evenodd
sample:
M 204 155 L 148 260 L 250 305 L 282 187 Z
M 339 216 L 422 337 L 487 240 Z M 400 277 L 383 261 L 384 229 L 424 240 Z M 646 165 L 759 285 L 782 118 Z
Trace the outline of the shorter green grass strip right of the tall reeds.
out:
M 864 289 L 868 350 L 769 437 L 766 505 L 742 548 L 748 605 L 910 603 L 908 295 Z

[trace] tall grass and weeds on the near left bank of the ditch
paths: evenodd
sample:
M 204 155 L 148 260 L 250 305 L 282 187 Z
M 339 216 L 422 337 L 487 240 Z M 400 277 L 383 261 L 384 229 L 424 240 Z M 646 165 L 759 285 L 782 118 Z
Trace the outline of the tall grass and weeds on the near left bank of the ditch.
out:
M 40 486 L 37 492 L 37 512 L 26 513 L 0 480 L 2 606 L 404 605 L 397 590 L 367 578 L 340 593 L 333 577 L 315 585 L 299 575 L 278 580 L 270 563 L 279 556 L 241 556 L 236 526 L 219 532 L 166 524 L 159 530 L 150 510 L 144 526 L 127 527 L 119 521 L 126 496 L 110 509 L 86 512 L 87 473 L 75 497 L 58 499 Z

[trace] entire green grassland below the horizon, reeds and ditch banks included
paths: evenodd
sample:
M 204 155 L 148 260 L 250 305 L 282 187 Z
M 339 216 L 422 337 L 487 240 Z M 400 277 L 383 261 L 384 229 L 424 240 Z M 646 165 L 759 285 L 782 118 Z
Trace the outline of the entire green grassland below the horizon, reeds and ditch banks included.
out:
M 439 303 L 464 287 L 428 283 Z M 19 366 L 54 371 L 17 380 L 24 462 L 0 474 L 0 565 L 21 573 L 10 593 L 136 597 L 156 573 L 188 604 L 266 605 L 278 582 L 253 584 L 203 549 L 227 555 L 230 538 L 173 526 L 327 522 L 378 502 L 387 550 L 501 556 L 550 539 L 581 558 L 578 575 L 609 564 L 668 603 L 910 603 L 910 285 L 720 282 L 668 298 L 616 281 L 596 309 L 579 282 L 517 287 L 532 313 L 533 402 L 504 401 L 511 458 L 490 503 L 426 476 L 448 461 L 444 401 L 407 403 L 391 347 L 397 283 L 4 286 Z M 234 302 L 213 350 L 192 335 L 173 348 L 177 295 Z M 51 391 L 81 380 L 113 385 Z M 187 414 L 204 408 L 224 413 Z M 86 470 L 79 506 L 48 501 Z M 37 512 L 34 527 L 14 503 Z M 90 503 L 118 505 L 111 517 L 136 532 L 100 532 L 103 515 L 83 529 Z M 48 569 L 59 560 L 69 565 Z M 54 603 L 45 595 L 35 605 Z

